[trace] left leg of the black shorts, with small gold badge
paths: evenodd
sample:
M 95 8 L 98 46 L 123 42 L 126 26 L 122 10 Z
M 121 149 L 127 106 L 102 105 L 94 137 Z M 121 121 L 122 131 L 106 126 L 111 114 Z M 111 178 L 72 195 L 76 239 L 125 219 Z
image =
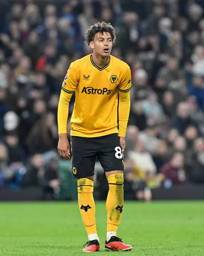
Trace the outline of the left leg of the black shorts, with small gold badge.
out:
M 94 138 L 71 137 L 72 175 L 84 178 L 94 175 L 96 145 Z

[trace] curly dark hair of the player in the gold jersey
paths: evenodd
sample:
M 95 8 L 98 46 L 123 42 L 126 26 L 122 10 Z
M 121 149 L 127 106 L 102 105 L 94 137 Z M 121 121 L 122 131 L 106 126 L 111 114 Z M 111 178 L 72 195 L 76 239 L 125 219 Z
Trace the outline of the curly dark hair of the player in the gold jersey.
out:
M 103 35 L 103 32 L 108 32 L 111 34 L 112 41 L 115 41 L 115 29 L 111 25 L 111 23 L 98 22 L 95 23 L 93 26 L 86 31 L 86 35 L 84 36 L 84 43 L 90 44 L 91 41 L 94 41 L 95 34 L 100 32 Z

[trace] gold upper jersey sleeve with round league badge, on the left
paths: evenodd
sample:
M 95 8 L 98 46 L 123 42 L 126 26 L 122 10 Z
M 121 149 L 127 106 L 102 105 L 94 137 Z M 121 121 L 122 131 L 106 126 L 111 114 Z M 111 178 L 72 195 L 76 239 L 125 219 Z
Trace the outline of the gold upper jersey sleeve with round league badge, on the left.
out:
M 74 93 L 78 86 L 79 78 L 80 68 L 77 63 L 72 62 L 62 83 L 62 90 L 66 93 Z

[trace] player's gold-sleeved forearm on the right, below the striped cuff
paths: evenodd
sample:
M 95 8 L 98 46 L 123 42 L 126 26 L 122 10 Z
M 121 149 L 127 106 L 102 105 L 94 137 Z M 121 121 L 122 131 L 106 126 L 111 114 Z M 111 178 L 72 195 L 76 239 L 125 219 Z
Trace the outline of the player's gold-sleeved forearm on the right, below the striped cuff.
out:
M 120 137 L 125 137 L 127 122 L 129 119 L 129 111 L 130 111 L 130 92 L 119 92 L 119 134 Z

